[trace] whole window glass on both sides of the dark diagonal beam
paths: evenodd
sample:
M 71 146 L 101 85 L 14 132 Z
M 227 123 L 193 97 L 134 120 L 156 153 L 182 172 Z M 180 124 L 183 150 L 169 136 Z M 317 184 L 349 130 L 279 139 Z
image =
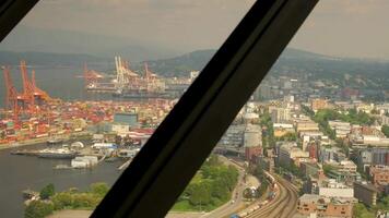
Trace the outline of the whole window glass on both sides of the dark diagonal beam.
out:
M 3 216 L 87 217 L 252 3 L 42 0 L 0 45 Z M 389 171 L 388 9 L 320 1 L 167 217 L 387 210 L 353 197 Z

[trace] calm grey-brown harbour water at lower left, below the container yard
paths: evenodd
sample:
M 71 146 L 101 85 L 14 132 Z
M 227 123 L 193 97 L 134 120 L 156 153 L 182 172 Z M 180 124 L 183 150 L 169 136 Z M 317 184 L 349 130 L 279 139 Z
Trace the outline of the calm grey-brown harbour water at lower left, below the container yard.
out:
M 45 147 L 45 145 L 28 146 L 28 148 L 34 147 Z M 111 185 L 121 173 L 117 170 L 120 161 L 102 162 L 92 170 L 54 170 L 54 166 L 70 165 L 70 160 L 10 155 L 10 152 L 11 149 L 0 150 L 1 218 L 23 217 L 23 190 L 39 191 L 48 183 L 54 183 L 57 191 L 69 187 L 86 190 L 94 182 L 106 182 Z

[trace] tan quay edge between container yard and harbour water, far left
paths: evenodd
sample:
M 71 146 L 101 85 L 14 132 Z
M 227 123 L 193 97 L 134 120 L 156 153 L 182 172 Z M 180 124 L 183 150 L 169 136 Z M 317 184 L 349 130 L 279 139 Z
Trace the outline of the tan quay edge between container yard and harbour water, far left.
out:
M 89 135 L 89 134 L 91 134 L 89 131 L 83 131 L 83 132 L 78 132 L 78 133 L 70 133 L 67 135 L 60 135 L 60 136 L 61 136 L 61 138 L 63 138 L 63 141 L 69 141 L 71 138 L 71 136 L 80 137 L 80 136 L 84 136 L 84 135 Z M 1 144 L 0 150 L 37 145 L 37 144 L 46 143 L 50 138 L 51 138 L 50 136 L 46 136 L 46 137 L 40 137 L 40 138 L 25 140 L 22 142 Z

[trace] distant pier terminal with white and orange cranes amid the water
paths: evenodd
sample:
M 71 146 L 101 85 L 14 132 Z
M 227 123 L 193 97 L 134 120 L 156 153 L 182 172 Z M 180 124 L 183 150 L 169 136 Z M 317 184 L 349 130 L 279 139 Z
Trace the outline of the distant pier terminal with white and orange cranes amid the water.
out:
M 187 78 L 167 78 L 153 73 L 144 63 L 143 73 L 138 74 L 129 62 L 115 57 L 115 76 L 104 76 L 84 64 L 83 78 L 85 89 L 91 93 L 108 93 L 123 98 L 177 98 L 181 96 L 197 77 L 197 71 L 190 72 Z

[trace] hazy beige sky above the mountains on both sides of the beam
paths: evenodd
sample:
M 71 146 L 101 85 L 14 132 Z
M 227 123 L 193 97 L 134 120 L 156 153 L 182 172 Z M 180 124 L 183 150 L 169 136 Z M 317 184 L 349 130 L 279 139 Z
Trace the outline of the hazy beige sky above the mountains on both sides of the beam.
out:
M 40 0 L 22 24 L 191 51 L 217 48 L 254 0 Z M 291 46 L 389 59 L 389 0 L 320 0 Z

